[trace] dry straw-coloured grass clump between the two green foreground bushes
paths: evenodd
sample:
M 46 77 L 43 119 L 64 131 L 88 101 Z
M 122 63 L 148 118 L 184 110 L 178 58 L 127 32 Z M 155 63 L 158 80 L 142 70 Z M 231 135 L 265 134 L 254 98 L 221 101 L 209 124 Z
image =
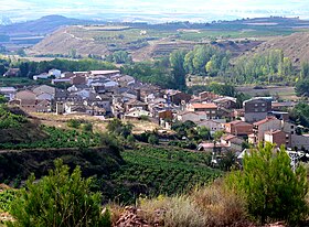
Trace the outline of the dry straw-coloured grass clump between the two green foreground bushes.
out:
M 194 191 L 191 195 L 141 199 L 139 208 L 150 225 L 178 227 L 253 226 L 245 203 L 222 183 Z

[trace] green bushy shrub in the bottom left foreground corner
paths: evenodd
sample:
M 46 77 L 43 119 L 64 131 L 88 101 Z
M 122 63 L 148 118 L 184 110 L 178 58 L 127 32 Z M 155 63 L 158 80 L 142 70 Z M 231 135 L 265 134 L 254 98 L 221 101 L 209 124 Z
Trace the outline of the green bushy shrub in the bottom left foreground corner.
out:
M 102 215 L 102 195 L 90 192 L 92 179 L 83 179 L 77 166 L 72 174 L 62 160 L 55 170 L 34 183 L 32 174 L 25 188 L 12 203 L 9 226 L 111 226 L 108 212 Z

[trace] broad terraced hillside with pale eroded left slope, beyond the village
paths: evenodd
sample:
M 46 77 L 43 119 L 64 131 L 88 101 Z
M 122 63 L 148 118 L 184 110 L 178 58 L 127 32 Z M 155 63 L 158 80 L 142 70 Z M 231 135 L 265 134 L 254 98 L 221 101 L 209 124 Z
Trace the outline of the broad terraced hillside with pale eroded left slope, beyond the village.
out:
M 163 28 L 163 25 L 162 25 Z M 111 25 L 75 25 L 62 28 L 43 41 L 28 50 L 30 55 L 68 54 L 76 50 L 77 54 L 107 55 L 115 51 L 131 53 L 137 62 L 169 55 L 178 48 L 192 50 L 194 45 L 211 43 L 213 31 L 203 32 L 204 36 L 194 37 L 196 30 L 161 30 L 147 29 L 141 34 L 141 29 L 134 26 Z M 183 35 L 183 36 L 182 36 Z M 191 35 L 191 36 L 190 36 Z M 188 40 L 194 37 L 193 40 Z M 234 56 L 251 50 L 262 41 L 245 40 L 217 40 L 214 45 L 231 51 Z

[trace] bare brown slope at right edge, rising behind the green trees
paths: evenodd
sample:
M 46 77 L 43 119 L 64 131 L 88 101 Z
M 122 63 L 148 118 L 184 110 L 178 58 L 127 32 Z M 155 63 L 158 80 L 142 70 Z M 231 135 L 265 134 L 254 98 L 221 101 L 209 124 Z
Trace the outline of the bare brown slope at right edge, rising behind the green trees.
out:
M 271 39 L 256 48 L 252 53 L 263 53 L 270 48 L 283 50 L 285 56 L 289 57 L 295 65 L 299 65 L 302 61 L 309 61 L 309 32 L 295 33 L 288 36 L 279 36 Z

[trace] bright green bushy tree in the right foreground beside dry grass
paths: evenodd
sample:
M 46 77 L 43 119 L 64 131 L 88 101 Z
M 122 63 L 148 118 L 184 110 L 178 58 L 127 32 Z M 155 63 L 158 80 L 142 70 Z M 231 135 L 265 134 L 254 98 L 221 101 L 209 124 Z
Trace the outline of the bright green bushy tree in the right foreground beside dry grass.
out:
M 227 183 L 245 197 L 249 214 L 262 224 L 268 218 L 295 224 L 308 214 L 306 169 L 299 165 L 294 173 L 284 148 L 259 144 L 243 163 L 243 172 L 233 172 Z

